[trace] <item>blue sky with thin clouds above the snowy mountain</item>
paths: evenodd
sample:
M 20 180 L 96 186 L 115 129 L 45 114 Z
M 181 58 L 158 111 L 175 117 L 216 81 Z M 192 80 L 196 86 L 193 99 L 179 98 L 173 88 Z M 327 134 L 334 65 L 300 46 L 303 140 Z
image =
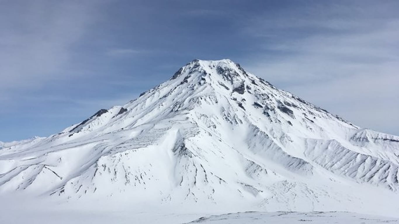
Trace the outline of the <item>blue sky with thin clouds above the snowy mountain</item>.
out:
M 229 58 L 399 135 L 398 9 L 396 0 L 0 0 L 0 141 L 57 133 L 196 58 Z

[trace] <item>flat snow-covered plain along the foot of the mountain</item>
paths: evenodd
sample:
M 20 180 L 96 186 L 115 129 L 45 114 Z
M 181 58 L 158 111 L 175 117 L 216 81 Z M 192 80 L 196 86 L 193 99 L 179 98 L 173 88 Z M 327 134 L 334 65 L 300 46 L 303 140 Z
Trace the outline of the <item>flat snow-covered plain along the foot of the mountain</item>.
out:
M 27 198 L 0 198 L 1 224 L 399 224 L 399 217 L 354 212 L 194 211 L 134 203 L 55 203 Z M 33 198 L 32 198 L 33 199 Z

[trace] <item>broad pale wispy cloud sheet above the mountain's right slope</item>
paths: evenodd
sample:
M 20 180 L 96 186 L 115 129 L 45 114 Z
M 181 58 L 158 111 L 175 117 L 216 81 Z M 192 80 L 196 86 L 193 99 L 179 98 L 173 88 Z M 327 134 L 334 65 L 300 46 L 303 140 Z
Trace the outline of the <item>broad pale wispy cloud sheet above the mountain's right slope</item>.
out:
M 292 17 L 274 20 L 274 25 L 267 18 L 256 18 L 257 28 L 245 31 L 260 39 L 264 54 L 250 57 L 247 66 L 355 124 L 399 134 L 395 5 L 314 6 L 306 16 L 293 12 Z M 266 22 L 260 25 L 262 20 Z

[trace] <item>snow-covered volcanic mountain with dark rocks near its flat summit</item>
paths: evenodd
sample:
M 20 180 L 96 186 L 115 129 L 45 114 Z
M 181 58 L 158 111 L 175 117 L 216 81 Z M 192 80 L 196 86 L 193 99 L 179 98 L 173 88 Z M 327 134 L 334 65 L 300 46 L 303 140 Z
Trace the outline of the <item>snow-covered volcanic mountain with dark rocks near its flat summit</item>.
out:
M 398 155 L 397 136 L 359 128 L 230 60 L 194 60 L 123 106 L 2 143 L 0 192 L 392 214 Z

